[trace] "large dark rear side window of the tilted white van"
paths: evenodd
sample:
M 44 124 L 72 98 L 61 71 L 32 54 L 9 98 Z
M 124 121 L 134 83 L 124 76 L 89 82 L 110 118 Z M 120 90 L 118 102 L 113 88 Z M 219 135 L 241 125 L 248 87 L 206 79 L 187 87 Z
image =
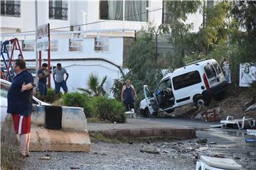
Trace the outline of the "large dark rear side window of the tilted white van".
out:
M 184 88 L 186 86 L 192 86 L 193 84 L 198 84 L 201 81 L 202 80 L 198 71 L 188 72 L 173 78 L 175 90 Z

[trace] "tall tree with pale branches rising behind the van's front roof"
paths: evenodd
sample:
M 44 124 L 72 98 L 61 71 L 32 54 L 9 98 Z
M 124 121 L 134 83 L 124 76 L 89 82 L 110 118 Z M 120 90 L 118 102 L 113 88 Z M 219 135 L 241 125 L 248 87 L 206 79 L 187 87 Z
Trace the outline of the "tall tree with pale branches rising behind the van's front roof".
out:
M 196 13 L 201 7 L 201 1 L 164 1 L 169 17 L 166 20 L 170 28 L 170 46 L 174 52 L 169 55 L 166 64 L 173 67 L 180 67 L 186 55 L 186 35 L 189 33 L 192 24 L 186 24 L 188 13 Z

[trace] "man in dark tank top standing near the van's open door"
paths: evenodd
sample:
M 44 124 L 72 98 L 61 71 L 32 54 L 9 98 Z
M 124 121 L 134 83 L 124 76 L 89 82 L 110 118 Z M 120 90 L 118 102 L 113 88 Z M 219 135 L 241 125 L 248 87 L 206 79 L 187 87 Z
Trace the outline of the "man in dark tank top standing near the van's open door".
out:
M 134 98 L 137 97 L 137 93 L 132 86 L 131 81 L 127 79 L 125 85 L 122 87 L 121 100 L 124 102 L 125 111 L 130 111 L 134 108 Z

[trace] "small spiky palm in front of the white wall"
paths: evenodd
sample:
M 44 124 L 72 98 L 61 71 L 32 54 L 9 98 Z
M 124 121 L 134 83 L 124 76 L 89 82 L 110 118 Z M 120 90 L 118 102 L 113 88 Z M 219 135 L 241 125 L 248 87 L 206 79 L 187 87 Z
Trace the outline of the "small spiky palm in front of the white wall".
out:
M 103 89 L 103 84 L 107 80 L 107 76 L 103 77 L 101 83 L 99 78 L 95 74 L 90 74 L 87 79 L 87 89 L 78 88 L 80 91 L 84 91 L 90 96 L 104 96 L 106 91 Z

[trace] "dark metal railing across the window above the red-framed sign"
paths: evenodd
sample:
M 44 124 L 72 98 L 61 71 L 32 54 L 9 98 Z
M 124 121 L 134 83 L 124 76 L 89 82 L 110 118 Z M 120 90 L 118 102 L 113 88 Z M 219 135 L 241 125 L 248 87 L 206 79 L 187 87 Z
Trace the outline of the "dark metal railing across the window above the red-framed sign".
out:
M 68 8 L 64 7 L 49 7 L 49 18 L 68 20 Z

